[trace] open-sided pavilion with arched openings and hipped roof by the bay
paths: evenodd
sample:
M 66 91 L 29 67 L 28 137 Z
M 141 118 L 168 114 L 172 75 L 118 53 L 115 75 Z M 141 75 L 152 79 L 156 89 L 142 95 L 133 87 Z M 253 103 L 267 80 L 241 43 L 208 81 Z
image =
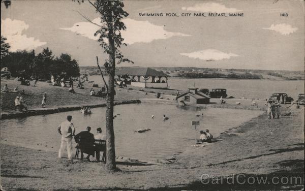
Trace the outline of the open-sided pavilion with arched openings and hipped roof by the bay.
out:
M 115 75 L 120 79 L 122 76 L 129 76 L 130 85 L 147 88 L 168 88 L 168 75 L 162 71 L 144 67 L 118 67 Z

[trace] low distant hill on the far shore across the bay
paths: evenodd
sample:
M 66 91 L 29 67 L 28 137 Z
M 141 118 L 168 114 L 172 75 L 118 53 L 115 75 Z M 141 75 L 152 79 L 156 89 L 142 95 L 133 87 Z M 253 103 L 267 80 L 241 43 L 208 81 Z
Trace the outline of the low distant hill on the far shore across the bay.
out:
M 304 71 L 210 69 L 195 67 L 151 67 L 171 77 L 304 80 Z M 104 68 L 102 68 L 104 70 Z M 100 75 L 98 67 L 80 67 L 81 74 Z

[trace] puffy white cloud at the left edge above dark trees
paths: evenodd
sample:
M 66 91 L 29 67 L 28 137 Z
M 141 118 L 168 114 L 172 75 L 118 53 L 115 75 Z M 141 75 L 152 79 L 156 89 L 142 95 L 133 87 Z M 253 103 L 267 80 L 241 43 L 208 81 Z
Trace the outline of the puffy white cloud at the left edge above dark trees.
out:
M 6 42 L 11 45 L 10 51 L 32 50 L 47 44 L 46 42 L 40 42 L 39 39 L 35 39 L 34 37 L 22 35 L 23 30 L 29 27 L 24 21 L 12 20 L 10 18 L 1 21 L 1 35 L 6 37 Z

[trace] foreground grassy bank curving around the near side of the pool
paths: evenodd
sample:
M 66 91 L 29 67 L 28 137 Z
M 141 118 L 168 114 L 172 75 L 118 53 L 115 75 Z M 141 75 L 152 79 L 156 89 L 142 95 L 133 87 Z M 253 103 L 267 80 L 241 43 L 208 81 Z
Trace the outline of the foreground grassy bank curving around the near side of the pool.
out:
M 8 190 L 98 189 L 291 189 L 293 184 L 202 184 L 200 176 L 246 178 L 304 177 L 304 109 L 295 115 L 267 119 L 265 114 L 231 129 L 221 141 L 189 147 L 177 153 L 172 164 L 120 161 L 116 173 L 103 163 L 57 159 L 57 153 L 8 145 L 1 140 L 1 184 Z M 283 110 L 283 112 L 285 112 Z M 236 178 L 233 178 L 236 181 Z M 268 179 L 268 180 L 269 180 Z

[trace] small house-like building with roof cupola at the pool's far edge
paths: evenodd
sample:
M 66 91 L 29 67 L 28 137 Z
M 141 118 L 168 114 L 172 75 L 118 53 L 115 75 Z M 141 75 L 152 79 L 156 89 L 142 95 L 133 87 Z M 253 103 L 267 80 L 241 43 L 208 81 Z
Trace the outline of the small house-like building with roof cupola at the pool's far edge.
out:
M 182 93 L 176 97 L 177 103 L 186 105 L 209 104 L 210 97 L 200 91 L 197 87 L 190 87 L 188 92 Z

